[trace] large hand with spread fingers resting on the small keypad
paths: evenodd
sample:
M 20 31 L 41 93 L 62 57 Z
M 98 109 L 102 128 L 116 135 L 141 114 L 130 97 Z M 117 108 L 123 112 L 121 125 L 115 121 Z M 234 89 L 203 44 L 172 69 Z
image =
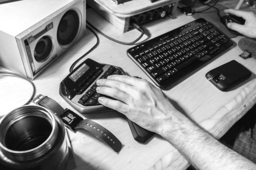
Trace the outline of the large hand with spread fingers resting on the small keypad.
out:
M 145 79 L 110 75 L 97 80 L 97 85 L 97 93 L 117 99 L 99 97 L 100 104 L 123 113 L 152 132 L 160 133 L 160 126 L 172 117 L 172 113 L 178 113 L 161 90 Z

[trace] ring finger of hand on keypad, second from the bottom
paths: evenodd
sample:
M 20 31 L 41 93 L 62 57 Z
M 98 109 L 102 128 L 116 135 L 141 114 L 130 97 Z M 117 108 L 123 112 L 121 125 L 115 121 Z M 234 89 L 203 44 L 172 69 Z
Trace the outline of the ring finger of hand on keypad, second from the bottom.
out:
M 130 96 L 127 93 L 124 93 L 124 92 L 122 92 L 122 91 L 120 91 L 116 88 L 109 88 L 109 87 L 102 86 L 102 87 L 97 87 L 96 91 L 99 94 L 116 98 L 116 99 L 121 100 L 125 103 L 128 103 L 128 101 L 130 100 Z

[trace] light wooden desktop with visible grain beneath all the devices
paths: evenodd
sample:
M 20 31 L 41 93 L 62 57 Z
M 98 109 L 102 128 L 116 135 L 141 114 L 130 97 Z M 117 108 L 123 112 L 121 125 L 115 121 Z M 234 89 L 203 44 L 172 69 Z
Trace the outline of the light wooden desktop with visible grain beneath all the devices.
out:
M 120 33 L 111 24 L 103 20 L 93 11 L 88 11 L 87 18 L 101 31 L 121 41 L 134 40 L 139 32 Z M 145 25 L 151 37 L 193 21 L 191 16 L 177 15 L 177 19 L 165 18 L 162 21 Z M 98 34 L 99 35 L 99 34 Z M 127 73 L 145 79 L 149 78 L 128 58 L 124 46 L 99 35 L 100 43 L 91 52 L 90 57 L 97 62 L 122 67 Z M 237 43 L 242 37 L 234 38 Z M 142 40 L 148 39 L 143 36 Z M 57 100 L 63 107 L 71 108 L 59 95 L 59 83 L 68 74 L 70 65 L 96 43 L 96 37 L 87 31 L 86 36 L 70 50 L 49 66 L 33 80 L 36 94 L 43 94 Z M 234 47 L 208 65 L 193 72 L 163 91 L 167 97 L 175 101 L 175 106 L 201 125 L 208 132 L 220 138 L 237 120 L 239 120 L 256 102 L 256 60 L 244 60 L 238 55 L 242 51 Z M 221 92 L 206 78 L 205 73 L 230 60 L 235 59 L 251 70 L 254 75 L 239 87 L 230 92 Z M 5 69 L 0 68 L 0 71 Z M 32 87 L 25 80 L 0 75 L 1 115 L 22 105 L 31 95 Z M 75 111 L 77 113 L 77 111 Z M 146 144 L 133 140 L 126 119 L 119 113 L 101 113 L 84 115 L 103 125 L 122 142 L 119 153 L 104 145 L 86 132 L 69 133 L 73 148 L 76 168 L 73 170 L 185 170 L 188 162 L 180 153 L 159 135 L 155 135 Z

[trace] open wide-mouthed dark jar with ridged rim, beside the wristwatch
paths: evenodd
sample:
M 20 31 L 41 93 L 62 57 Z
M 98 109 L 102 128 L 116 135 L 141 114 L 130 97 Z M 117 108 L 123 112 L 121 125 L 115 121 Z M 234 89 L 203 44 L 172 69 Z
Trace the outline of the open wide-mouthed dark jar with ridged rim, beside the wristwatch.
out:
M 0 170 L 65 170 L 65 135 L 63 122 L 44 107 L 11 111 L 0 120 Z

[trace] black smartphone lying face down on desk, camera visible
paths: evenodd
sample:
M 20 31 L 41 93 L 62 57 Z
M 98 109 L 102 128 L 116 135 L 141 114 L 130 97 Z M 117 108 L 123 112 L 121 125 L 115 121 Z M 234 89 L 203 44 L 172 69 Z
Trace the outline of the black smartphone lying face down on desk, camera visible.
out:
M 205 74 L 206 78 L 221 91 L 230 88 L 248 79 L 252 73 L 235 60 L 229 61 Z

